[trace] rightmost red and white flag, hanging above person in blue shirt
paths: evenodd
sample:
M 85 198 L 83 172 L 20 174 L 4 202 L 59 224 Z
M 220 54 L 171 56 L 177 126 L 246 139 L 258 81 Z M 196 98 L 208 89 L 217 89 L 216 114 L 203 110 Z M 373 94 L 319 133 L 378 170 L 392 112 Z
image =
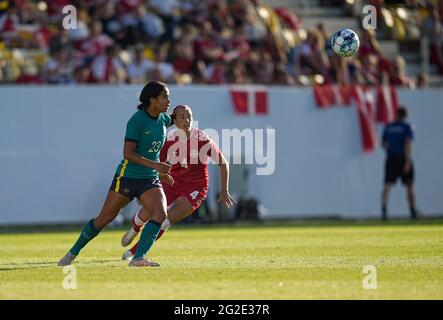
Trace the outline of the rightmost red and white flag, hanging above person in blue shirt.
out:
M 377 122 L 393 122 L 397 115 L 398 96 L 394 86 L 377 86 Z

